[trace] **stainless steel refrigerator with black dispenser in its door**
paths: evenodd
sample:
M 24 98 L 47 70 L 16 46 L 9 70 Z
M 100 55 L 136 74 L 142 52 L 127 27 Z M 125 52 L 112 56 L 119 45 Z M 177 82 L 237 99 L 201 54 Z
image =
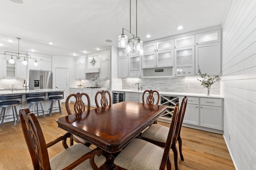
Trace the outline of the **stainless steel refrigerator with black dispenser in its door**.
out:
M 30 70 L 30 90 L 52 88 L 52 72 Z

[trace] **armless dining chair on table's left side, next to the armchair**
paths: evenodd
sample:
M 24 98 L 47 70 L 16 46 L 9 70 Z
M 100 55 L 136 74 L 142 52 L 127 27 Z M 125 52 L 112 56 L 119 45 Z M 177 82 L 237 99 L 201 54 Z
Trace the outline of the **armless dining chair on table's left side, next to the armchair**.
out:
M 74 98 L 76 98 L 76 102 L 75 102 L 75 104 L 74 104 L 74 113 L 75 114 L 81 114 L 81 113 L 83 113 L 84 111 L 86 111 L 86 106 L 85 106 L 85 104 L 84 104 L 84 102 L 83 102 L 83 100 L 82 100 L 82 98 L 87 98 L 87 102 L 88 102 L 88 105 L 87 105 L 87 111 L 89 111 L 90 110 L 90 97 L 88 96 L 88 94 L 86 94 L 86 93 L 76 93 L 76 94 L 70 94 L 69 96 L 68 96 L 68 98 L 66 99 L 66 104 L 65 104 L 65 106 L 66 106 L 66 110 L 67 110 L 67 112 L 68 112 L 68 115 L 72 115 L 72 112 L 71 112 L 71 110 L 70 110 L 70 108 L 69 108 L 69 104 L 68 104 L 68 101 L 69 101 L 69 99 L 71 98 L 71 97 L 74 97 Z M 82 138 L 80 138 L 80 137 L 77 137 L 77 136 L 75 136 L 75 135 L 71 135 L 71 137 L 70 137 L 70 146 L 72 146 L 72 145 L 74 145 L 74 141 L 76 142 L 76 143 L 82 143 L 82 144 L 84 144 L 84 145 L 86 145 L 86 146 L 90 146 L 91 144 L 90 143 L 88 143 L 86 140 L 84 140 L 84 139 L 82 139 Z

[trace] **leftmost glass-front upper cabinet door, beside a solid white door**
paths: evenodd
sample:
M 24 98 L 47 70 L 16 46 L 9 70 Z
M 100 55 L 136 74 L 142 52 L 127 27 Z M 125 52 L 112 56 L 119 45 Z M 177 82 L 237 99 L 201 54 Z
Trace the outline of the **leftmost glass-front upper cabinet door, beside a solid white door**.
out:
M 129 56 L 129 77 L 140 77 L 140 76 L 141 76 L 140 56 L 139 55 Z

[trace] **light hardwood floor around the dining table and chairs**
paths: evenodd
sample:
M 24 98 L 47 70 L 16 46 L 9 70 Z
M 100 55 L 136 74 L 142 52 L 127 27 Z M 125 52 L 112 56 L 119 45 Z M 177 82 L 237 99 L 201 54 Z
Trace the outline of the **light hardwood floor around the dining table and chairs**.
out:
M 70 106 L 72 108 L 72 106 Z M 66 131 L 57 127 L 56 119 L 68 115 L 62 103 L 62 115 L 52 113 L 49 117 L 38 117 L 46 143 L 64 135 Z M 161 125 L 170 126 L 168 123 L 159 122 Z M 228 148 L 222 135 L 200 131 L 187 127 L 181 128 L 182 151 L 184 161 L 178 157 L 180 170 L 234 170 Z M 69 140 L 68 140 L 69 145 Z M 178 148 L 178 145 L 177 145 Z M 48 149 L 52 158 L 64 148 L 61 143 Z M 170 151 L 173 160 L 173 153 Z M 13 126 L 13 122 L 0 125 L 0 170 L 33 170 L 30 154 L 23 137 L 20 122 Z M 174 163 L 172 161 L 172 169 Z

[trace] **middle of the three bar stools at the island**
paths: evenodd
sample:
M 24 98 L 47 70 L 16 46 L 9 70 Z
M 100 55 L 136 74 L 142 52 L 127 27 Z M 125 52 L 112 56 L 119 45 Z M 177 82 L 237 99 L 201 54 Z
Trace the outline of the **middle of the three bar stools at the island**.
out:
M 43 105 L 42 105 L 42 102 L 44 102 L 44 100 L 45 100 L 45 96 L 46 96 L 46 93 L 26 94 L 26 100 L 27 100 L 27 103 L 29 104 L 28 109 L 30 110 L 31 104 L 34 104 L 34 107 L 33 107 L 33 113 L 34 114 L 35 114 L 35 104 L 36 104 L 37 117 L 39 116 L 39 114 L 38 114 L 38 103 L 40 103 L 41 109 L 42 109 L 42 110 L 39 110 L 39 111 L 42 111 L 43 117 L 45 117 L 44 109 L 43 109 Z M 40 97 L 44 97 L 44 98 L 40 98 Z

